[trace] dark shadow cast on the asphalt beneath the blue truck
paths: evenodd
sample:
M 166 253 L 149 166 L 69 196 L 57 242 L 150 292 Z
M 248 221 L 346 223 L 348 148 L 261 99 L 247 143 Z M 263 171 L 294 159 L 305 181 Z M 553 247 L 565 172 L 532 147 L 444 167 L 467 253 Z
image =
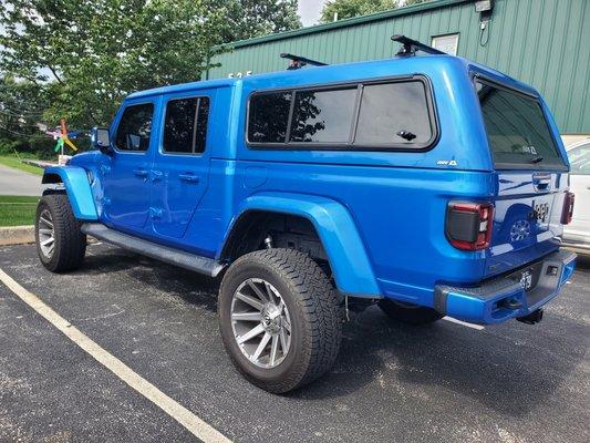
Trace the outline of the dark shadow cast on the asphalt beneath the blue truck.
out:
M 148 285 L 208 311 L 217 310 L 219 279 L 206 278 L 121 249 L 87 257 L 84 275 L 126 269 L 139 285 Z M 439 321 L 412 327 L 391 321 L 376 307 L 354 315 L 343 326 L 339 358 L 327 377 L 288 394 L 299 400 L 345 396 L 371 383 L 428 391 L 439 385 L 472 398 L 500 413 L 526 416 L 550 398 L 584 357 L 584 326 L 570 318 L 560 330 L 580 330 L 563 344 L 539 338 L 520 323 L 508 322 L 477 331 Z M 547 348 L 563 349 L 561 352 Z M 530 364 L 535 362 L 535 364 Z M 548 373 L 550 368 L 550 373 Z M 407 388 L 412 390 L 412 388 Z M 426 394 L 427 396 L 427 394 Z M 427 401 L 427 398 L 422 401 Z

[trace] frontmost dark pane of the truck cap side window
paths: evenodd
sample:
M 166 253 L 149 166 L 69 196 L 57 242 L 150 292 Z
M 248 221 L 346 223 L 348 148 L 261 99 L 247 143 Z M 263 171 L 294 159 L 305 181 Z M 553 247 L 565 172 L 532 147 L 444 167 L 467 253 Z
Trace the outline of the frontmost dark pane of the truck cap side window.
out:
M 256 94 L 250 99 L 248 141 L 284 143 L 291 107 L 291 92 Z

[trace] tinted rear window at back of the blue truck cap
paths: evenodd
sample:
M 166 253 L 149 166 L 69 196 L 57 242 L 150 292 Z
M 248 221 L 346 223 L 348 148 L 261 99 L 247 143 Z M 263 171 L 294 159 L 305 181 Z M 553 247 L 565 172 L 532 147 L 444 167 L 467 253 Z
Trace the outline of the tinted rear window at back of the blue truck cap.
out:
M 476 82 L 497 167 L 563 167 L 539 102 L 522 93 Z

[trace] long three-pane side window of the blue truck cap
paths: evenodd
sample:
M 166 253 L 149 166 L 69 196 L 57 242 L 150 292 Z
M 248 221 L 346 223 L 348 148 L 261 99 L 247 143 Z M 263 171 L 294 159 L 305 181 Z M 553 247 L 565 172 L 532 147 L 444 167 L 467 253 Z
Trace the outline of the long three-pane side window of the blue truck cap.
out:
M 396 79 L 250 96 L 247 142 L 283 150 L 424 150 L 436 134 L 426 80 Z

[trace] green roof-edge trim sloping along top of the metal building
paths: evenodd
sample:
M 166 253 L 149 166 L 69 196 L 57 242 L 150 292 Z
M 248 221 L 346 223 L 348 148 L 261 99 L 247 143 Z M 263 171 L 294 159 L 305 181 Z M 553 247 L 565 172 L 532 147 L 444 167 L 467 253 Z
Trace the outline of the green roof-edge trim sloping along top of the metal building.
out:
M 226 43 L 224 44 L 224 47 L 231 47 L 231 48 L 251 47 L 253 44 L 267 43 L 267 42 L 271 42 L 276 40 L 292 39 L 292 38 L 300 37 L 300 35 L 313 34 L 317 32 L 325 32 L 325 31 L 331 31 L 331 30 L 339 29 L 339 28 L 353 27 L 353 25 L 366 23 L 366 22 L 375 22 L 379 20 L 386 20 L 386 19 L 391 19 L 394 17 L 398 17 L 398 16 L 407 16 L 407 14 L 417 13 L 417 12 L 425 12 L 432 9 L 443 8 L 446 6 L 465 3 L 467 1 L 473 2 L 474 0 L 432 0 L 425 3 L 418 3 L 418 4 L 408 6 L 408 7 L 392 9 L 391 11 L 375 12 L 372 14 L 353 17 L 352 19 L 342 19 L 342 20 L 333 21 L 331 23 L 317 24 L 313 27 L 296 29 L 293 31 L 277 32 L 275 34 L 262 35 L 262 37 L 258 37 L 255 39 L 238 40 L 235 42 Z

